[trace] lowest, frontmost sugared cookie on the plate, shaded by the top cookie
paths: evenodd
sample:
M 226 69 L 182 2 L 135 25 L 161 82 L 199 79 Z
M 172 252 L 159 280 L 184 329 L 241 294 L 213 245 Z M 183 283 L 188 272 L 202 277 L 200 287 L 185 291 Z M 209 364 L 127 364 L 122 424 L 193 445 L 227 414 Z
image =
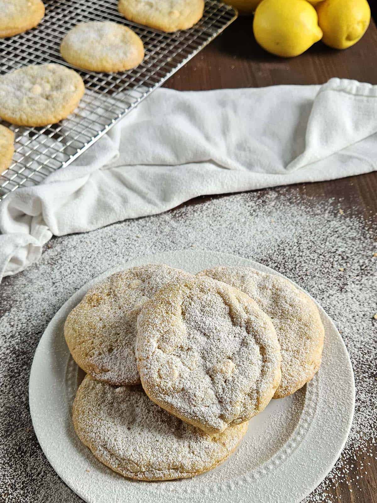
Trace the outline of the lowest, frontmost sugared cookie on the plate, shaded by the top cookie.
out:
M 77 436 L 112 470 L 138 480 L 188 478 L 225 461 L 247 423 L 208 435 L 153 403 L 141 386 L 114 388 L 86 376 L 73 403 Z

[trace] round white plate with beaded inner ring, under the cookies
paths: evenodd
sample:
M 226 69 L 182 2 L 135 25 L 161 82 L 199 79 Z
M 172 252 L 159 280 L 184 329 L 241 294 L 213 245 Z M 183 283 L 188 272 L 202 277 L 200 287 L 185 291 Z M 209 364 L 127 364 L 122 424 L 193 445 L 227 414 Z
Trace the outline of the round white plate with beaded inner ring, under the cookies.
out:
M 184 250 L 133 260 L 84 285 L 51 320 L 31 369 L 30 411 L 47 459 L 64 482 L 88 503 L 299 503 L 338 459 L 354 409 L 351 362 L 339 332 L 320 306 L 326 335 L 318 375 L 293 396 L 272 400 L 250 421 L 237 452 L 215 470 L 185 480 L 132 481 L 102 465 L 77 439 L 71 406 L 82 371 L 64 341 L 65 318 L 99 280 L 121 269 L 149 263 L 166 263 L 192 273 L 229 265 L 278 274 L 241 257 Z

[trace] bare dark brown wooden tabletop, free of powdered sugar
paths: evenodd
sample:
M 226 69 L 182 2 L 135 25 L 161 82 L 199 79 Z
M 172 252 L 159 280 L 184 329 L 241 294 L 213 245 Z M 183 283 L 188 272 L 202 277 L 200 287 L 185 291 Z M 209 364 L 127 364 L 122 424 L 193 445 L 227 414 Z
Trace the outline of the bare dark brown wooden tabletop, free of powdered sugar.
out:
M 372 6 L 373 7 L 373 6 Z M 377 8 L 376 15 L 377 15 Z M 352 78 L 377 84 L 377 28 L 372 21 L 364 37 L 353 47 L 337 51 L 318 42 L 297 58 L 280 59 L 266 53 L 255 42 L 252 18 L 237 19 L 220 37 L 175 73 L 164 87 L 180 91 L 219 88 L 263 87 L 277 84 L 321 84 L 331 77 Z M 364 217 L 377 213 L 377 173 L 330 182 L 301 184 L 293 189 L 311 197 L 344 198 L 342 207 L 352 208 Z M 186 204 L 198 204 L 198 198 Z M 377 503 L 377 451 L 374 458 L 356 453 L 354 473 L 336 489 L 329 488 L 339 503 Z M 362 462 L 367 475 L 358 484 Z M 289 502 L 287 502 L 289 503 Z

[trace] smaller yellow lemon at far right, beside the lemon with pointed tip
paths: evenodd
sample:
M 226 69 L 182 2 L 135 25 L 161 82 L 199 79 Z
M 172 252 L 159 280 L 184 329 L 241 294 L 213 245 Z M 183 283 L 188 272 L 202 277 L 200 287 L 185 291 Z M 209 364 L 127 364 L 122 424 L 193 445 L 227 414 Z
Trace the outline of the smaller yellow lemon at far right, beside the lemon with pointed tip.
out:
M 325 0 L 317 6 L 323 41 L 335 49 L 346 49 L 364 35 L 370 22 L 366 0 Z

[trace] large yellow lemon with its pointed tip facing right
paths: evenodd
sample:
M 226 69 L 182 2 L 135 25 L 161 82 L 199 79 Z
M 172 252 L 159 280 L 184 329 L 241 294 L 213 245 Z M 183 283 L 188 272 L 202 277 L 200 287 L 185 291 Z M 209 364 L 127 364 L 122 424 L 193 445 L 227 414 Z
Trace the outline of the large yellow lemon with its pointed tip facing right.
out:
M 316 10 L 306 0 L 262 0 L 253 31 L 258 44 L 277 56 L 298 56 L 322 38 Z

